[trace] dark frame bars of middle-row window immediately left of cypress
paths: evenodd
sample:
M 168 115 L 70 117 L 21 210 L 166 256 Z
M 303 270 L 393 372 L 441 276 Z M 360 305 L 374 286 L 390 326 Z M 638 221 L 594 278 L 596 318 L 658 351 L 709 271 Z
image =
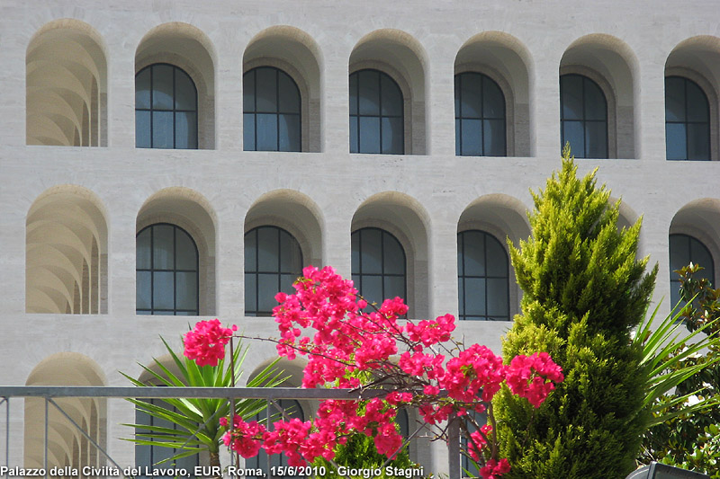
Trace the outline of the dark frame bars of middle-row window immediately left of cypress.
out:
M 482 249 L 482 256 L 483 256 L 483 264 L 485 265 L 485 274 L 482 276 L 478 275 L 467 275 L 465 274 L 465 237 L 464 235 L 466 233 L 480 233 L 483 236 L 483 249 Z M 491 239 L 491 241 L 494 241 L 500 246 L 500 250 L 504 253 L 503 259 L 505 260 L 505 276 L 489 276 L 488 275 L 488 238 Z M 461 258 L 462 258 L 462 268 L 461 268 Z M 511 315 L 510 315 L 510 264 L 509 264 L 509 254 L 508 251 L 505 249 L 503 244 L 498 240 L 498 238 L 495 237 L 495 235 L 492 235 L 491 233 L 482 230 L 482 229 L 465 229 L 463 231 L 460 231 L 457 233 L 457 280 L 458 280 L 458 286 L 457 286 L 457 318 L 458 321 L 510 321 Z M 465 294 L 465 279 L 485 279 L 485 315 L 471 315 L 471 316 L 478 316 L 477 319 L 468 319 L 466 312 L 466 297 Z M 493 319 L 491 315 L 488 315 L 488 281 L 487 279 L 504 279 L 504 285 L 506 287 L 506 295 L 507 295 L 507 311 L 508 316 L 501 316 L 505 319 Z M 493 315 L 495 316 L 495 315 Z M 484 318 L 484 319 L 482 319 Z

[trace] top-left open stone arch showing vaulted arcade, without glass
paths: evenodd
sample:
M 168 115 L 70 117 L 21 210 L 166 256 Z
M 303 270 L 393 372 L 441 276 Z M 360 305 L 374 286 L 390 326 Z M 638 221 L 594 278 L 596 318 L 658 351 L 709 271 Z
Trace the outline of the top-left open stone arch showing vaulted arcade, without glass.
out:
M 107 60 L 90 25 L 65 18 L 42 26 L 25 56 L 26 143 L 107 146 Z

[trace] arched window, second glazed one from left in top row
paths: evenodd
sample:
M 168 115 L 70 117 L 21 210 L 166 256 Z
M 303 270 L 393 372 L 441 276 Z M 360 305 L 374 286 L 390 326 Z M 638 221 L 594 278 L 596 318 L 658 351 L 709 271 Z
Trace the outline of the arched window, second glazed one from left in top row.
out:
M 300 151 L 300 90 L 275 67 L 257 67 L 242 77 L 243 144 L 247 151 Z

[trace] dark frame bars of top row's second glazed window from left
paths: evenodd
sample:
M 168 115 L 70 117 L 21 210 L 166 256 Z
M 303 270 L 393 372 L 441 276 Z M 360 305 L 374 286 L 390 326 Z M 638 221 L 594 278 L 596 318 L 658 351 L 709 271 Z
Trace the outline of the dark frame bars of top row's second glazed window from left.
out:
M 268 70 L 274 70 L 275 71 L 275 111 L 257 111 L 257 70 L 260 69 L 268 69 Z M 245 82 L 246 82 L 246 76 L 247 75 L 254 75 L 254 82 L 255 89 L 253 91 L 253 109 L 246 110 L 247 104 L 245 102 L 245 96 L 247 94 L 247 90 L 245 88 Z M 297 93 L 297 102 L 298 102 L 298 111 L 297 112 L 284 112 L 280 111 L 280 75 L 285 75 L 287 78 L 292 82 L 293 86 L 295 87 L 295 93 Z M 242 113 L 243 113 L 243 151 L 275 151 L 275 152 L 293 152 L 293 153 L 299 153 L 302 152 L 302 129 L 303 129 L 303 109 L 302 109 L 302 91 L 300 89 L 300 85 L 295 81 L 295 78 L 293 78 L 293 75 L 290 75 L 288 72 L 286 72 L 283 68 L 280 67 L 273 67 L 270 65 L 259 65 L 257 67 L 252 67 L 248 69 L 245 73 L 242 75 L 242 81 L 243 81 L 243 102 L 242 102 Z M 257 149 L 257 115 L 258 114 L 272 114 L 275 115 L 275 128 L 277 132 L 277 138 L 276 138 L 276 149 L 268 149 L 268 150 L 258 150 Z M 254 122 L 253 122 L 253 143 L 255 144 L 255 148 L 249 149 L 247 147 L 247 143 L 245 142 L 245 132 L 247 129 L 247 122 L 244 120 L 245 115 L 253 115 L 254 116 Z M 281 115 L 293 115 L 296 116 L 298 119 L 298 146 L 297 149 L 287 149 L 287 150 L 281 150 L 280 149 L 280 116 Z

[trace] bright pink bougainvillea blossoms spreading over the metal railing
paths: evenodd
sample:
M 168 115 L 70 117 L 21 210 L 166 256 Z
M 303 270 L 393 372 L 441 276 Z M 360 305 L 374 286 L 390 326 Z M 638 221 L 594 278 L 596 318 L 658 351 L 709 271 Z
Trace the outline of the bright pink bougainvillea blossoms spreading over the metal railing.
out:
M 367 371 L 375 384 L 392 386 L 392 392 L 384 399 L 362 402 L 323 401 L 313 421 L 277 421 L 271 430 L 236 416 L 223 440 L 244 457 L 257 454 L 262 446 L 269 454 L 284 453 L 290 465 L 299 466 L 303 460 L 334 457 L 336 446 L 356 433 L 373 437 L 378 452 L 393 457 L 402 443 L 393 421 L 398 406 L 418 407 L 425 421 L 442 424 L 453 413 L 484 412 L 503 383 L 539 407 L 554 382 L 563 381 L 561 368 L 545 352 L 518 356 L 504 365 L 485 346 L 464 348 L 454 342 L 452 315 L 417 324 L 399 321 L 408 312 L 400 297 L 366 313 L 367 303 L 352 281 L 332 268 L 310 266 L 303 275 L 293 285 L 295 294 L 277 294 L 280 305 L 273 312 L 280 331 L 278 353 L 308 359 L 302 386 L 360 387 L 358 375 Z M 185 355 L 198 364 L 217 364 L 235 329 L 221 328 L 218 320 L 199 323 L 185 335 Z M 400 350 L 400 358 L 393 359 Z M 225 419 L 223 425 L 227 424 Z M 508 460 L 495 457 L 491 432 L 484 426 L 469 441 L 468 454 L 480 462 L 484 479 L 498 479 L 509 471 Z

